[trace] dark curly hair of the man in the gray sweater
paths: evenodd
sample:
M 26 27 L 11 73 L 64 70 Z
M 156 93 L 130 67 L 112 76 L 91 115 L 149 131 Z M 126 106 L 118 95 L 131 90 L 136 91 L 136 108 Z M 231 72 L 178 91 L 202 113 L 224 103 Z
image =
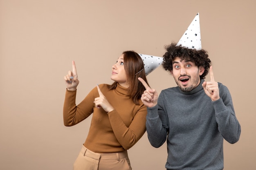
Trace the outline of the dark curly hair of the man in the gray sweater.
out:
M 162 63 L 162 67 L 166 71 L 173 70 L 173 60 L 176 57 L 180 57 L 181 60 L 191 61 L 195 63 L 196 66 L 203 66 L 204 73 L 200 75 L 200 79 L 205 79 L 205 76 L 209 72 L 211 60 L 208 58 L 207 51 L 205 50 L 195 50 L 188 49 L 186 47 L 176 46 L 176 43 L 171 43 L 168 46 L 165 46 L 166 53 L 164 53 L 164 61 Z

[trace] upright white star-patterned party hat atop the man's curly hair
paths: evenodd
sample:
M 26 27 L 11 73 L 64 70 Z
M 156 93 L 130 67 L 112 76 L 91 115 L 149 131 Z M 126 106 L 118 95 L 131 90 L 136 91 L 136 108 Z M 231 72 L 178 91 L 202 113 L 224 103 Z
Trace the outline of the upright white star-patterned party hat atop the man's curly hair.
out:
M 182 38 L 180 38 L 180 41 L 177 43 L 176 46 L 180 45 L 188 49 L 202 49 L 199 13 L 195 15 L 195 18 L 193 19 L 185 33 L 182 35 Z

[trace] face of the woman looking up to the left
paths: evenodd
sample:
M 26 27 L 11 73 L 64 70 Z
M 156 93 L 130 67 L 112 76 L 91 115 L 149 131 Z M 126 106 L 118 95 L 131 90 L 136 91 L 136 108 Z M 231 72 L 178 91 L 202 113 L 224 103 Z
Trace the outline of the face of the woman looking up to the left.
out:
M 127 77 L 124 70 L 124 64 L 124 54 L 122 54 L 118 58 L 117 63 L 112 66 L 111 79 L 118 82 L 121 86 L 128 88 L 129 85 L 126 83 Z

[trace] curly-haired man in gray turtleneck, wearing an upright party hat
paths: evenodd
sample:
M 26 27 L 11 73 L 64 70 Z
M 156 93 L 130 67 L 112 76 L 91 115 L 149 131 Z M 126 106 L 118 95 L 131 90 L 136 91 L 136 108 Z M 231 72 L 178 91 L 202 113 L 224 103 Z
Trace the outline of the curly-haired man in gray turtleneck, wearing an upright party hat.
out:
M 193 22 L 190 26 L 199 24 L 199 15 Z M 189 27 L 191 30 L 195 31 Z M 188 34 L 184 34 L 186 39 Z M 167 139 L 167 170 L 222 170 L 223 139 L 236 143 L 240 124 L 228 88 L 214 80 L 211 60 L 201 49 L 200 38 L 189 40 L 196 44 L 187 44 L 183 38 L 166 47 L 162 63 L 177 87 L 163 90 L 158 97 L 155 89 L 139 78 L 146 88 L 141 101 L 148 110 L 148 139 L 156 148 Z M 210 82 L 205 82 L 208 72 Z

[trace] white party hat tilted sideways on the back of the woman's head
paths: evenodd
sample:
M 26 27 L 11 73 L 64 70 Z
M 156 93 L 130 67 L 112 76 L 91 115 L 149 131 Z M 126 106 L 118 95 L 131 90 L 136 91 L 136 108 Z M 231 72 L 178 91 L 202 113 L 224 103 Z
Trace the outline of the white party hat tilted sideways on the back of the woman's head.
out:
M 154 71 L 163 62 L 163 57 L 157 57 L 153 55 L 139 54 L 144 63 L 144 69 L 146 76 Z

